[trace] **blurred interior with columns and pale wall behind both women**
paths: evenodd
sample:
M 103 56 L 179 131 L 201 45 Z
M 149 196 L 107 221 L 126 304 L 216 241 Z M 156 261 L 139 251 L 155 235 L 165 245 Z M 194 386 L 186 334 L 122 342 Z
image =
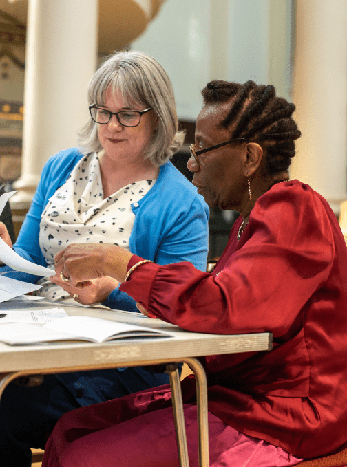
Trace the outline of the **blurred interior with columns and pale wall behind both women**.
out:
M 45 162 L 78 144 L 98 63 L 125 47 L 153 55 L 171 78 L 187 130 L 173 162 L 190 180 L 201 89 L 212 79 L 251 79 L 295 103 L 303 135 L 291 177 L 341 214 L 346 0 L 0 0 L 0 176 L 7 191 L 18 190 L 10 199 L 16 232 Z M 220 255 L 237 216 L 211 210 L 209 258 Z

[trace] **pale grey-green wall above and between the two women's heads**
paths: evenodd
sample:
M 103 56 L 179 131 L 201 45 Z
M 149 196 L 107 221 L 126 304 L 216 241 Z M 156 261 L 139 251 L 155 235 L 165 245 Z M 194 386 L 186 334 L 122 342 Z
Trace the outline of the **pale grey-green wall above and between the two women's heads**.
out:
M 167 0 L 132 48 L 171 78 L 178 116 L 195 120 L 212 79 L 275 85 L 291 93 L 291 0 Z

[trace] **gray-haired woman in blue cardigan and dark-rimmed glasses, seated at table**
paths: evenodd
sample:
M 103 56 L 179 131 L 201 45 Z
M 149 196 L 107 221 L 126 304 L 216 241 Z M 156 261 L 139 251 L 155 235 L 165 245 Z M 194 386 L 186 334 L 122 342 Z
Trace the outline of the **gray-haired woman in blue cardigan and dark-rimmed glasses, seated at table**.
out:
M 189 261 L 205 270 L 208 208 L 169 162 L 184 134 L 164 69 L 142 52 L 118 52 L 92 77 L 89 104 L 81 147 L 61 151 L 45 164 L 14 250 L 52 268 L 52 275 L 56 254 L 76 242 L 117 245 L 162 265 Z M 12 246 L 3 224 L 0 235 Z M 71 287 L 63 274 L 54 283 L 48 278 L 39 283 L 39 294 L 51 300 L 72 297 L 83 305 L 137 311 L 109 276 L 89 281 L 83 290 Z M 1 399 L 0 464 L 30 466 L 29 448 L 44 446 L 63 413 L 165 384 L 167 378 L 136 367 L 45 376 L 35 388 L 10 384 Z

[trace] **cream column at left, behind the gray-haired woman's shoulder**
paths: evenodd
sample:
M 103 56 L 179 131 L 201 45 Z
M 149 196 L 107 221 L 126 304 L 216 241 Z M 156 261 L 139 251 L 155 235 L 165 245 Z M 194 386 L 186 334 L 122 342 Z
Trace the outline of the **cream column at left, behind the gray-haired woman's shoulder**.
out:
M 23 155 L 11 206 L 28 205 L 50 155 L 76 146 L 97 63 L 98 0 L 29 0 Z

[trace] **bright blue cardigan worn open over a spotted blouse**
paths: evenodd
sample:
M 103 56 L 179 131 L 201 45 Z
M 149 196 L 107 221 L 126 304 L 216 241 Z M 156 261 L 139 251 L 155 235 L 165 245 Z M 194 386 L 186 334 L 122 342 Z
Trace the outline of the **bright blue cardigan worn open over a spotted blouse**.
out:
M 55 191 L 61 187 L 83 154 L 77 148 L 53 155 L 45 164 L 30 210 L 25 217 L 14 250 L 21 257 L 46 266 L 39 247 L 41 214 Z M 209 209 L 196 188 L 171 162 L 160 166 L 158 180 L 140 201 L 132 204 L 134 227 L 130 251 L 158 264 L 189 261 L 206 269 Z M 111 243 L 112 241 L 110 241 Z M 10 270 L 7 266 L 1 268 Z M 37 276 L 23 272 L 7 274 L 14 279 L 36 283 Z M 115 289 L 103 305 L 137 311 L 125 292 Z

